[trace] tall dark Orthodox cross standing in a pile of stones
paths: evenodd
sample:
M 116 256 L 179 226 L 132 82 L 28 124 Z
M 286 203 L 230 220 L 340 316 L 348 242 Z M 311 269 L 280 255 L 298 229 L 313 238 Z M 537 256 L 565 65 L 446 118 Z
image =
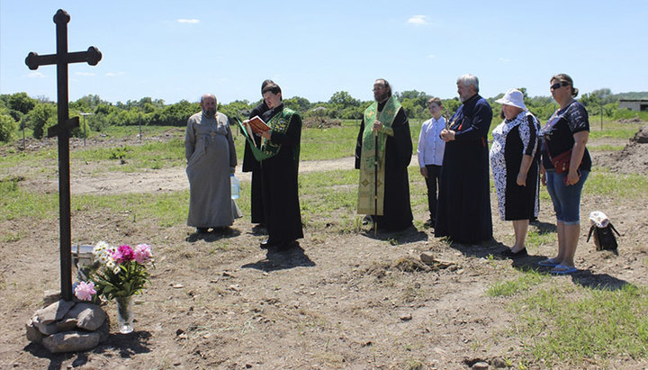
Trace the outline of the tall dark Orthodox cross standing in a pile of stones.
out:
M 57 27 L 57 53 L 38 55 L 29 53 L 25 64 L 30 69 L 49 64 L 57 65 L 58 86 L 58 124 L 49 128 L 48 137 L 58 136 L 58 217 L 60 224 L 60 275 L 61 298 L 72 301 L 72 237 L 70 232 L 70 181 L 69 181 L 69 134 L 79 126 L 78 117 L 69 119 L 67 102 L 67 65 L 69 63 L 87 62 L 96 66 L 102 58 L 101 51 L 94 46 L 87 51 L 67 52 L 67 23 L 70 16 L 63 9 L 54 14 Z

